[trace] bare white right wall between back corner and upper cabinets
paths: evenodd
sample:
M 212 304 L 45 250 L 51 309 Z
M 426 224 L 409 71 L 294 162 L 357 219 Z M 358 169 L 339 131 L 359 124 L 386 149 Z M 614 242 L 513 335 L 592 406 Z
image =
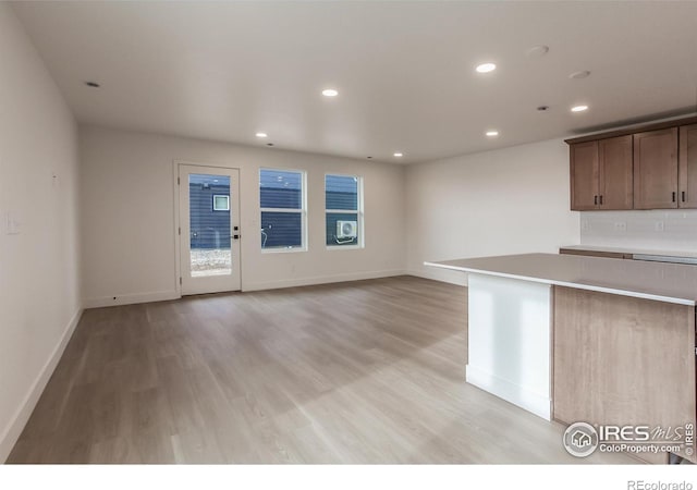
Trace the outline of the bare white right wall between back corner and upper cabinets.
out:
M 579 241 L 570 211 L 568 147 L 562 139 L 411 166 L 406 172 L 407 267 L 464 284 L 425 260 L 557 253 Z

